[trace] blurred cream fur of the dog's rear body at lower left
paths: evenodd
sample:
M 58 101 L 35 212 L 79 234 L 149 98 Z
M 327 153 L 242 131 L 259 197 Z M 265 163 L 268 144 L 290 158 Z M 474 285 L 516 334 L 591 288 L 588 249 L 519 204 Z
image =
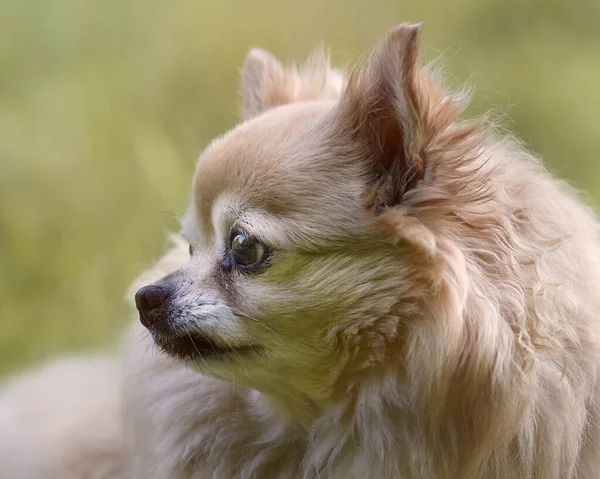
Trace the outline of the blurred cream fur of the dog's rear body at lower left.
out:
M 124 479 L 116 359 L 65 358 L 0 391 L 0 478 Z

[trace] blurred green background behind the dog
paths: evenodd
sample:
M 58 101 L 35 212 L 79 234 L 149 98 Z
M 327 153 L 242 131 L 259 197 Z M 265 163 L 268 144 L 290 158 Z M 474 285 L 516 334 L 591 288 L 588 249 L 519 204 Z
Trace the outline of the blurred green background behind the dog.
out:
M 598 0 L 0 0 L 0 374 L 116 343 L 249 47 L 344 63 L 404 20 L 471 113 L 600 198 Z

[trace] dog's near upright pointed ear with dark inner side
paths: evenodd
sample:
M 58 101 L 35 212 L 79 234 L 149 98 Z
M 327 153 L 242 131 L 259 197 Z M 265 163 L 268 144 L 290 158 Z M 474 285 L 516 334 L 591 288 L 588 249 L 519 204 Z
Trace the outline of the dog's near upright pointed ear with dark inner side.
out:
M 461 111 L 421 68 L 420 33 L 420 24 L 391 30 L 340 100 L 343 128 L 368 148 L 377 209 L 399 204 L 424 178 L 430 147 Z

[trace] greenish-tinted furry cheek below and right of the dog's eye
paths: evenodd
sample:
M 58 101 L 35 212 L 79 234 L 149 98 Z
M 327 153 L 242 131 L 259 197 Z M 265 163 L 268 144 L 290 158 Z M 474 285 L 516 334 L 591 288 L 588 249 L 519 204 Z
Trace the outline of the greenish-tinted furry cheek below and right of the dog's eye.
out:
M 280 254 L 260 274 L 233 281 L 236 307 L 250 330 L 285 357 L 333 354 L 334 330 L 355 329 L 398 302 L 402 258 L 387 251 L 330 255 Z

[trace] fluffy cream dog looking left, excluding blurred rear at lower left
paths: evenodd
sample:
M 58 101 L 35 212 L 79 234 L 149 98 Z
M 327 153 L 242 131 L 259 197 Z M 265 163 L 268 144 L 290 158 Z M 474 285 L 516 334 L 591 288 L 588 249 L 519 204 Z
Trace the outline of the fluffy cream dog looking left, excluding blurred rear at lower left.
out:
M 597 220 L 460 119 L 420 31 L 347 77 L 248 54 L 244 121 L 134 285 L 123 477 L 600 474 Z

